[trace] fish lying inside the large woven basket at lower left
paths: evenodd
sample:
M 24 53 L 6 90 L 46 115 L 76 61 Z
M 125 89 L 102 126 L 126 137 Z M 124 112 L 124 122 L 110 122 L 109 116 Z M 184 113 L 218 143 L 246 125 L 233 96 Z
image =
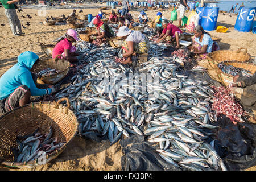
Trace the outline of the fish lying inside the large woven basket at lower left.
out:
M 40 134 L 37 129 L 26 136 L 17 136 L 18 148 L 11 148 L 14 152 L 14 162 L 29 162 L 40 158 L 42 155 L 51 154 L 58 150 L 65 142 L 57 142 L 57 137 L 52 137 L 53 129 L 50 127 L 48 134 Z

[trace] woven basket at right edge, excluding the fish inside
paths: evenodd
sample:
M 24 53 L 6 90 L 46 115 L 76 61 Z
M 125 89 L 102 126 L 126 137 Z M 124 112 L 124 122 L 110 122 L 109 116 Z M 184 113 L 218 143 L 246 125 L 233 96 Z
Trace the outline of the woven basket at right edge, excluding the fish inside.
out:
M 249 70 L 252 74 L 256 72 L 256 65 L 254 63 L 249 63 L 247 61 L 242 61 L 242 62 L 241 61 L 224 61 L 223 63 L 226 65 L 232 65 L 233 67 L 236 67 L 236 68 L 243 68 L 243 69 Z M 217 64 L 212 64 L 210 63 L 210 61 L 209 61 L 209 64 L 212 66 L 212 68 L 215 69 L 216 74 L 218 76 L 217 81 L 221 82 L 222 85 L 229 86 L 230 83 L 233 83 L 233 77 L 234 77 L 233 75 L 222 72 L 222 70 L 218 68 Z

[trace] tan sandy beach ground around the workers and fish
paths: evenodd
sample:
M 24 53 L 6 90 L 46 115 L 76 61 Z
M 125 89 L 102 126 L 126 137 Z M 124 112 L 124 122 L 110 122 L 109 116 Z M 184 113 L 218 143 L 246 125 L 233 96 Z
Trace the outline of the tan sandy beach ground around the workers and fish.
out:
M 105 4 L 104 4 L 105 5 Z M 103 4 L 99 4 L 103 6 Z M 121 8 L 121 7 L 117 7 Z M 76 9 L 77 13 L 80 9 Z M 82 9 L 82 14 L 92 14 L 93 16 L 98 14 L 99 9 Z M 40 56 L 44 56 L 43 51 L 40 48 L 40 43 L 55 44 L 52 42 L 56 38 L 64 35 L 68 30 L 68 24 L 44 26 L 42 22 L 45 18 L 38 15 L 38 10 L 35 9 L 23 9 L 24 12 L 18 13 L 19 19 L 23 26 L 27 29 L 23 29 L 26 35 L 20 37 L 14 37 L 11 33 L 9 22 L 4 13 L 4 8 L 0 7 L 0 76 L 3 75 L 9 68 L 16 64 L 17 56 L 24 51 L 33 51 Z M 68 16 L 72 9 L 58 9 L 58 10 L 46 10 L 46 16 L 57 17 L 60 15 Z M 112 10 L 104 10 L 104 13 L 110 13 Z M 117 11 L 117 9 L 115 9 Z M 154 18 L 158 10 L 147 10 L 147 16 Z M 32 19 L 27 18 L 27 14 L 32 16 Z M 134 18 L 137 18 L 139 11 L 130 11 Z M 171 11 L 162 11 L 163 16 L 170 19 Z M 36 14 L 36 15 L 35 15 Z M 81 14 L 81 13 L 80 13 Z M 186 13 L 189 16 L 190 12 Z M 22 15 L 26 18 L 22 18 Z M 238 32 L 234 30 L 234 24 L 236 23 L 237 15 L 229 17 L 228 14 L 218 15 L 217 26 L 225 26 L 228 28 L 226 33 L 217 33 L 216 31 L 210 31 L 210 35 L 221 38 L 220 49 L 221 50 L 237 50 L 238 48 L 246 48 L 250 53 L 251 59 L 256 63 L 256 34 L 253 32 Z M 31 25 L 26 26 L 26 22 L 30 22 Z M 178 21 L 174 22 L 175 25 Z M 34 168 L 6 168 L 0 166 L 0 170 L 121 170 L 121 156 L 123 155 L 121 146 L 115 143 L 110 146 L 109 140 L 101 143 L 94 142 L 90 139 L 84 139 L 76 136 L 68 147 L 64 150 L 58 158 L 52 160 L 43 166 Z M 255 167 L 247 170 L 256 170 Z

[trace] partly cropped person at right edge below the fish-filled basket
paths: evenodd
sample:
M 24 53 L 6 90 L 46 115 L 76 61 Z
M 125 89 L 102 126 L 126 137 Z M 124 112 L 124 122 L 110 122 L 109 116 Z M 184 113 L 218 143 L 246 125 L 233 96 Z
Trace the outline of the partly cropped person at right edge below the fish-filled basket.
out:
M 251 77 L 236 75 L 233 77 L 233 82 L 231 92 L 242 94 L 241 104 L 254 111 L 254 117 L 249 121 L 256 123 L 256 72 Z

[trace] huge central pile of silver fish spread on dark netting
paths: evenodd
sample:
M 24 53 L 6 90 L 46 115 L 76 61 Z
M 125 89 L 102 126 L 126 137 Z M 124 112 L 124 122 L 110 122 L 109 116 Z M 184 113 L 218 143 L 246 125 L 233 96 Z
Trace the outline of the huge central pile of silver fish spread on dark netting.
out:
M 88 64 L 54 97 L 69 98 L 80 136 L 107 135 L 114 144 L 122 135 L 143 135 L 159 146 L 156 152 L 167 163 L 183 170 L 226 170 L 214 142 L 205 142 L 217 128 L 210 124 L 216 120 L 210 109 L 213 89 L 179 73 L 183 60 L 162 56 L 164 48 L 151 42 L 148 61 L 133 69 L 114 61 L 118 49 L 80 42 L 77 49 L 87 54 Z M 158 82 L 145 80 L 148 75 Z

